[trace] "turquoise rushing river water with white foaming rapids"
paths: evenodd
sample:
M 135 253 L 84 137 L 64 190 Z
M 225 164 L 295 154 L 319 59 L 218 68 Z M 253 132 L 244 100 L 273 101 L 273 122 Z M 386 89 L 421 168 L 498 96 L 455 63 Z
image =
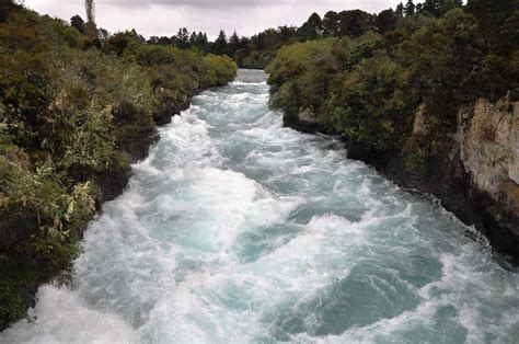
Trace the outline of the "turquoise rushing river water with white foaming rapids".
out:
M 161 129 L 2 343 L 514 343 L 519 274 L 450 214 L 282 128 L 260 72 Z

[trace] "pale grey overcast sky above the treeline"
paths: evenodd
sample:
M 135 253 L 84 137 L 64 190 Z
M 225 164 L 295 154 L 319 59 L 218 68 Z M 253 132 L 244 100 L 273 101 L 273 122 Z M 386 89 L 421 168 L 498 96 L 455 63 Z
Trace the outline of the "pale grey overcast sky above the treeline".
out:
M 178 27 L 207 32 L 214 38 L 220 28 L 251 36 L 268 27 L 301 25 L 312 12 L 361 9 L 380 12 L 403 0 L 97 0 L 97 25 L 111 33 L 136 28 L 149 36 L 172 36 Z M 405 1 L 404 1 L 405 2 Z M 83 0 L 25 0 L 42 14 L 66 21 L 84 19 Z

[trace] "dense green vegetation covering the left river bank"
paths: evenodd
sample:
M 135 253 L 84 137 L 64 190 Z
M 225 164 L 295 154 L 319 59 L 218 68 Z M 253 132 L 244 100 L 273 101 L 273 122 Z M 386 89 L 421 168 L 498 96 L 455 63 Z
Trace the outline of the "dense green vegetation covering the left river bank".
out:
M 157 123 L 237 72 L 227 57 L 76 24 L 0 0 L 0 330 L 38 285 L 70 279 L 85 225 Z

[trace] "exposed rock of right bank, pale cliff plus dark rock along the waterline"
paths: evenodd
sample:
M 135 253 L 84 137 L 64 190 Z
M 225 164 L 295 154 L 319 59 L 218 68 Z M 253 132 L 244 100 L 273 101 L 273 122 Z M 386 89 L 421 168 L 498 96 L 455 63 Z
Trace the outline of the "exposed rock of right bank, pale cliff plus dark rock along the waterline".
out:
M 308 121 L 309 114 L 301 111 L 297 117 L 286 125 L 319 131 L 314 116 Z M 424 106 L 418 107 L 410 142 L 427 137 L 435 122 Z M 462 108 L 450 149 L 430 157 L 431 168 L 424 174 L 408 171 L 408 145 L 403 151 L 378 151 L 346 141 L 347 158 L 371 164 L 403 187 L 434 195 L 447 210 L 485 233 L 494 246 L 519 259 L 519 102 L 505 98 L 492 104 L 481 99 Z

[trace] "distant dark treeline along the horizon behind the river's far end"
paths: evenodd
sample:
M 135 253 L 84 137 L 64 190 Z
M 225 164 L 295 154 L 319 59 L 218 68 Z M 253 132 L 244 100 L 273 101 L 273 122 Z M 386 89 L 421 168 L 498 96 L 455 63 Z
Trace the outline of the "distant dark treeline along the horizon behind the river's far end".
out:
M 216 41 L 209 42 L 206 33 L 189 32 L 184 27 L 180 28 L 177 34 L 172 37 L 153 36 L 148 39 L 148 43 L 228 55 L 240 67 L 263 69 L 280 47 L 291 43 L 325 37 L 359 37 L 369 31 L 383 35 L 395 30 L 399 21 L 405 16 L 439 18 L 460 7 L 462 7 L 461 0 L 426 0 L 416 4 L 408 0 L 405 4 L 396 5 L 394 10 L 384 10 L 378 14 L 361 10 L 347 10 L 330 11 L 321 18 L 318 13 L 313 13 L 300 27 L 268 28 L 252 37 L 240 37 L 237 32 L 228 36 L 224 31 L 220 31 Z M 72 19 L 72 24 L 79 30 L 85 30 L 84 23 L 78 19 Z M 101 34 L 105 35 L 106 32 L 102 31 Z M 135 32 L 134 34 L 139 36 Z M 145 37 L 139 37 L 142 42 L 145 41 Z

